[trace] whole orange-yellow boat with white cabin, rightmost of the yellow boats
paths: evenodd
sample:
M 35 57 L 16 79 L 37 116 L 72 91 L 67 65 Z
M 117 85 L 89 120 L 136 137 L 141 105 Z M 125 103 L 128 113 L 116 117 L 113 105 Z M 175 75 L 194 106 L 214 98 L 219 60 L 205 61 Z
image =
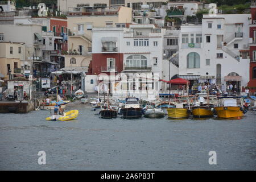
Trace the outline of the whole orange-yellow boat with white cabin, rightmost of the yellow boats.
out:
M 218 118 L 238 118 L 242 117 L 245 110 L 237 104 L 236 98 L 241 97 L 222 97 L 220 104 L 214 107 Z M 242 103 L 242 102 L 241 102 Z

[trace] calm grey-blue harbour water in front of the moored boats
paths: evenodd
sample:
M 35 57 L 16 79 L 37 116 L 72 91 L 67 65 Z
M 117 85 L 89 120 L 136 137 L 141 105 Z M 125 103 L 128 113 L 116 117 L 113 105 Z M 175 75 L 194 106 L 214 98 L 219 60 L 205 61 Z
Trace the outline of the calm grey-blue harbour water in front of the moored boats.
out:
M 256 112 L 239 120 L 101 119 L 85 105 L 74 121 L 49 111 L 0 114 L 1 170 L 255 170 Z M 46 165 L 39 165 L 39 151 Z M 209 151 L 217 165 L 209 165 Z

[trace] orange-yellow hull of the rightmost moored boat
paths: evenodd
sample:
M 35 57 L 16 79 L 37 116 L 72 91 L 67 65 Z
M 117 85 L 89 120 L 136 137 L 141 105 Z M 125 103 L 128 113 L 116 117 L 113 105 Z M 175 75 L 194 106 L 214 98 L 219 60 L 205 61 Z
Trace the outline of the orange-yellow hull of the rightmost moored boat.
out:
M 218 118 L 237 118 L 243 116 L 243 111 L 238 106 L 215 107 Z

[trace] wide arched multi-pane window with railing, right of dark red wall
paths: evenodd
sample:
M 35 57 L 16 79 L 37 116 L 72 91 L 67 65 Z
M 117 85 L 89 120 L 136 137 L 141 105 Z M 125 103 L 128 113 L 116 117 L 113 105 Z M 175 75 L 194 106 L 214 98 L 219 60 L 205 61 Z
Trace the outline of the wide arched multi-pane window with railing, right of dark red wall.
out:
M 126 67 L 147 67 L 147 57 L 143 55 L 131 55 L 126 59 Z

